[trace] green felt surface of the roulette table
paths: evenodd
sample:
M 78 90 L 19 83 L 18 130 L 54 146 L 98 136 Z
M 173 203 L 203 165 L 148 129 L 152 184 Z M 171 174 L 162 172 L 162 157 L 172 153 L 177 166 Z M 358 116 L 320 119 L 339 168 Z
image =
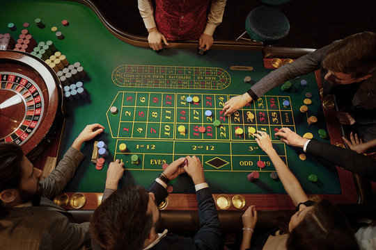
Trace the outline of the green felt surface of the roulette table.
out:
M 271 135 L 276 151 L 308 194 L 340 194 L 334 165 L 308 154 L 306 160 L 299 160 L 302 149 L 274 138 L 275 128 L 288 126 L 299 135 L 310 132 L 315 139 L 329 142 L 330 135 L 326 139 L 318 135 L 320 128 L 328 129 L 315 74 L 290 80 L 290 92 L 275 88 L 228 119 L 220 113 L 223 103 L 246 92 L 272 70 L 265 69 L 261 51 L 212 49 L 200 56 L 197 49 L 166 48 L 155 52 L 136 47 L 111 35 L 93 10 L 72 1 L 5 1 L 1 9 L 0 33 L 10 33 L 17 40 L 22 24 L 29 22 L 29 32 L 37 42 L 52 40 L 70 63 L 81 63 L 87 74 L 84 88 L 88 96 L 67 103 L 61 157 L 86 124 L 93 123 L 105 127 L 95 140 L 107 144 L 109 156 L 104 168 L 96 170 L 91 163 L 94 140 L 86 142 L 82 149 L 86 158 L 66 191 L 102 192 L 107 166 L 114 158 L 123 160 L 127 169 L 120 185 L 136 183 L 147 187 L 162 172 L 163 163 L 196 155 L 201 158 L 205 178 L 214 193 L 285 193 L 281 182 L 270 178 L 274 166 L 249 136 L 251 126 Z M 42 19 L 45 28 L 36 26 L 36 18 Z M 68 20 L 69 26 L 61 24 L 63 19 Z M 9 22 L 17 26 L 16 31 L 8 29 Z M 63 33 L 63 40 L 56 38 L 52 26 Z M 231 66 L 253 70 L 233 70 Z M 244 83 L 245 76 L 251 76 L 251 83 Z M 300 85 L 303 79 L 308 82 L 306 87 Z M 313 94 L 312 104 L 308 113 L 301 113 L 306 92 Z M 189 96 L 198 96 L 198 105 L 187 103 Z M 286 99 L 290 101 L 288 107 L 283 106 Z M 109 112 L 111 106 L 118 108 L 116 115 Z M 212 110 L 210 118 L 204 115 L 207 109 Z M 247 112 L 256 115 L 253 121 L 247 121 Z M 306 119 L 311 115 L 318 117 L 318 122 L 308 125 Z M 222 119 L 221 126 L 213 126 L 214 119 Z M 178 133 L 180 125 L 185 125 L 185 135 Z M 196 126 L 205 126 L 205 133 L 197 132 Z M 235 135 L 237 126 L 244 128 L 243 135 Z M 120 143 L 127 144 L 124 153 L 118 149 Z M 139 164 L 130 162 L 132 154 L 139 156 Z M 211 162 L 215 158 L 217 161 Z M 257 167 L 258 160 L 266 167 Z M 260 172 L 258 181 L 247 180 L 251 172 Z M 310 174 L 318 176 L 317 183 L 308 181 Z M 173 188 L 174 193 L 194 192 L 187 176 L 176 179 Z

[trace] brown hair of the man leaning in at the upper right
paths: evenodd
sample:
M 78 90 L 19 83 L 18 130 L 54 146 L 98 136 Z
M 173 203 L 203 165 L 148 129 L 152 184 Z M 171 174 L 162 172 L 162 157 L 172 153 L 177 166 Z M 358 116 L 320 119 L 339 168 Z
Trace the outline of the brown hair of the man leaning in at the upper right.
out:
M 322 66 L 359 78 L 376 70 L 376 33 L 364 31 L 340 40 L 329 49 Z

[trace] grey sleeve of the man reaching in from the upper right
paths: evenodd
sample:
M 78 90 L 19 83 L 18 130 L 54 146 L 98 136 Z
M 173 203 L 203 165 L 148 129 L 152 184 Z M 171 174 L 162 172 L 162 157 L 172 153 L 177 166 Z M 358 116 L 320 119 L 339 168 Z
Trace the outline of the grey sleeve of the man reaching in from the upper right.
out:
M 322 49 L 318 49 L 312 53 L 308 53 L 305 56 L 301 56 L 301 58 L 298 58 L 294 62 L 288 63 L 279 69 L 275 69 L 273 72 L 261 78 L 260 81 L 251 87 L 250 92 L 253 92 L 255 95 L 251 93 L 249 94 L 252 98 L 262 97 L 263 94 L 269 90 L 272 90 L 276 86 L 281 85 L 285 81 L 297 76 L 311 73 L 316 69 L 320 69 L 325 54 L 333 46 L 334 45 L 332 43 L 326 47 L 323 47 Z

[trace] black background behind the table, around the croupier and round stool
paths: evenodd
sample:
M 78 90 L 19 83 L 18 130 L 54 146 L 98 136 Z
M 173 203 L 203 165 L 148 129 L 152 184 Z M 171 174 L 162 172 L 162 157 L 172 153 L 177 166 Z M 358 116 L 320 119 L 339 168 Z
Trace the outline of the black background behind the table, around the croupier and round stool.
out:
M 136 0 L 91 1 L 111 25 L 133 35 L 147 35 Z M 214 40 L 235 40 L 245 31 L 249 11 L 263 5 L 258 0 L 228 0 Z M 376 0 L 292 0 L 274 7 L 290 22 L 290 33 L 274 45 L 278 47 L 318 49 L 347 35 L 376 31 Z

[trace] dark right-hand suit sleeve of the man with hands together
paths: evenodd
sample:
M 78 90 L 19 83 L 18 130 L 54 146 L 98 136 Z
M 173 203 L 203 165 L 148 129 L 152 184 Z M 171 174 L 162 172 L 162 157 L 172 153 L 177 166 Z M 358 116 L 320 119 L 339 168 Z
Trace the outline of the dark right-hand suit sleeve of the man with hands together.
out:
M 217 208 L 209 188 L 197 191 L 200 230 L 194 235 L 197 249 L 223 249 Z

